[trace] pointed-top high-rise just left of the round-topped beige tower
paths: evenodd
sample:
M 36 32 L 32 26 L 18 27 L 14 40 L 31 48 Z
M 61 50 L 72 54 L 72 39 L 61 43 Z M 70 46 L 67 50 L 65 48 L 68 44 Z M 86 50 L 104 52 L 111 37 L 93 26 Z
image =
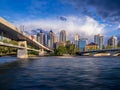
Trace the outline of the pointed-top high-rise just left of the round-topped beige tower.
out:
M 51 30 L 48 34 L 48 47 L 55 48 L 55 43 L 58 42 L 58 37 L 53 31 Z

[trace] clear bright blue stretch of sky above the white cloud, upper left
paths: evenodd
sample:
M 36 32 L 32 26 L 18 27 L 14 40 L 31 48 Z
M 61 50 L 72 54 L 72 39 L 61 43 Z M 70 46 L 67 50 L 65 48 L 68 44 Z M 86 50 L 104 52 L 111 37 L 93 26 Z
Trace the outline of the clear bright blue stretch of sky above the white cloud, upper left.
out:
M 70 5 L 66 6 L 60 0 L 2 0 L 0 9 L 3 17 L 12 18 L 12 20 L 56 17 L 77 13 L 74 8 L 70 8 Z

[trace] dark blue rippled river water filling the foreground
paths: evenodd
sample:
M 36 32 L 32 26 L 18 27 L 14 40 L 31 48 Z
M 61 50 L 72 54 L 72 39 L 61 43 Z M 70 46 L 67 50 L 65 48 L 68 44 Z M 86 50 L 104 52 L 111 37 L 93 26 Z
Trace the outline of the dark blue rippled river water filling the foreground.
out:
M 120 57 L 3 60 L 0 90 L 120 90 Z

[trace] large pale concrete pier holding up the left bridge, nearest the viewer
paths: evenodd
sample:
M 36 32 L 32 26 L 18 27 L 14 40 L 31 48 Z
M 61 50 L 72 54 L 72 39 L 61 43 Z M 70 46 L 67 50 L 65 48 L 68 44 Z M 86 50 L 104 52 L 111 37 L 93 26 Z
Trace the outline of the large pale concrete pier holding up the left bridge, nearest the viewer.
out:
M 28 58 L 28 52 L 27 52 L 27 42 L 26 41 L 19 41 L 19 46 L 25 47 L 24 49 L 18 49 L 17 50 L 17 57 L 18 58 Z

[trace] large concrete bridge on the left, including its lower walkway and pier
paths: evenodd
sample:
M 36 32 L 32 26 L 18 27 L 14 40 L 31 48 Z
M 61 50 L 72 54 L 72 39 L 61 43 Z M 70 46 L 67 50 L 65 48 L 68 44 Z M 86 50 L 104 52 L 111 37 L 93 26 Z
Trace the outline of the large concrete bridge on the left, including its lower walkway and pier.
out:
M 11 45 L 11 44 L 0 42 L 0 46 L 17 48 L 18 58 L 27 58 L 28 57 L 27 50 L 33 50 L 39 53 L 43 51 L 53 52 L 52 49 L 49 49 L 48 47 L 32 39 L 29 35 L 27 35 L 23 31 L 21 31 L 19 28 L 12 25 L 11 23 L 9 23 L 8 21 L 6 21 L 1 17 L 0 17 L 0 34 L 4 37 L 7 37 L 11 40 L 15 40 L 18 42 L 18 45 Z M 28 45 L 34 47 L 34 49 L 28 48 Z

